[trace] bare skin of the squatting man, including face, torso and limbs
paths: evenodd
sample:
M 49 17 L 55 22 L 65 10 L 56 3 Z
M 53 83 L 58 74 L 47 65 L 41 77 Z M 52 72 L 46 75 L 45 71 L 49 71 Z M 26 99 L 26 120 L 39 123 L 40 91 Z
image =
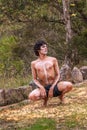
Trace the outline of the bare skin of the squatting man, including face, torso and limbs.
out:
M 57 84 L 58 90 L 62 91 L 59 97 L 64 103 L 64 95 L 72 89 L 72 83 L 67 81 L 58 82 L 60 78 L 58 61 L 54 57 L 47 56 L 47 45 L 42 45 L 39 50 L 39 57 L 31 63 L 34 83 L 38 86 L 29 94 L 29 99 L 36 101 L 43 99 L 43 105 L 47 105 L 48 98 L 53 97 L 53 89 Z M 46 95 L 45 86 L 51 84 L 51 88 Z

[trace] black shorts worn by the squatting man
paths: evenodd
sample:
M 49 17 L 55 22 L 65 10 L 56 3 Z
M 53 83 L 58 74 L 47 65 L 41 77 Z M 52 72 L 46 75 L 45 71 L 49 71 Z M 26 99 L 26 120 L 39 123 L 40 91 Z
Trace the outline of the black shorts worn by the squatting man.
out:
M 48 97 L 48 92 L 49 92 L 50 87 L 51 87 L 51 85 L 45 86 L 47 97 Z M 57 88 L 57 85 L 56 85 L 53 89 L 53 97 L 60 96 L 61 94 L 62 94 L 62 91 L 59 91 Z

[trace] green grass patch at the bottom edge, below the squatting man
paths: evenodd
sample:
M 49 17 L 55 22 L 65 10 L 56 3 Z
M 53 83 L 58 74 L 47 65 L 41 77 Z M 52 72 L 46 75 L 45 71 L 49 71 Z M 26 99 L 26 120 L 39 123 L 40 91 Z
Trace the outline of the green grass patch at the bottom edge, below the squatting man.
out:
M 56 130 L 56 121 L 53 119 L 40 118 L 33 125 L 19 130 Z

